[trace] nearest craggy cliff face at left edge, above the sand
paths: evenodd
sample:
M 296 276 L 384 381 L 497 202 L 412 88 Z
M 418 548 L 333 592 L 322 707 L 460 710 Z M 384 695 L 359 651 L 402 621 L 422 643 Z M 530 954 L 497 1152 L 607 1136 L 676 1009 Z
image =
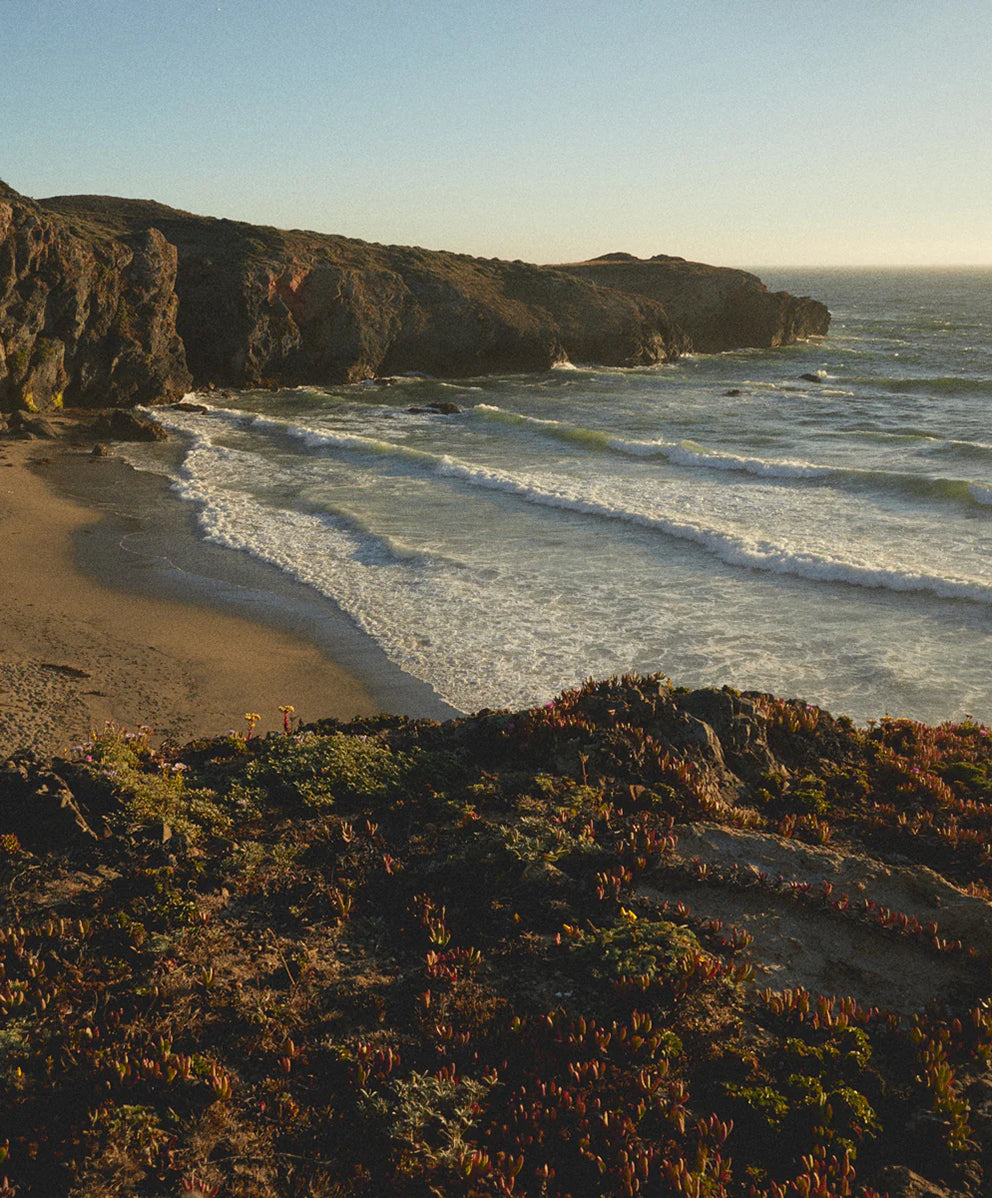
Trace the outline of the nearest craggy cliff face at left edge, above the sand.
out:
M 0 410 L 181 394 L 176 266 L 155 229 L 109 237 L 0 183 Z

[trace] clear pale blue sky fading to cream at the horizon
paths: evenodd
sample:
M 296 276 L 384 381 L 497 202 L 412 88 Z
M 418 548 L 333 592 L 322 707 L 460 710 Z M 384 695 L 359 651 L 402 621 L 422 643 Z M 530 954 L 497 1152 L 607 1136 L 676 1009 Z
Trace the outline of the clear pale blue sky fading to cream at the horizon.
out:
M 0 179 L 530 261 L 992 264 L 992 0 L 0 0 Z

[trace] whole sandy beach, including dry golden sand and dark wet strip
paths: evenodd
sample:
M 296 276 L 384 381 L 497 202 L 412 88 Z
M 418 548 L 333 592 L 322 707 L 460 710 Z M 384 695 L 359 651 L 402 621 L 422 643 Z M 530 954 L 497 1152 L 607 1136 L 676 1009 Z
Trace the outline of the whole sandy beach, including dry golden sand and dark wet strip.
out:
M 63 754 L 107 720 L 156 739 L 456 714 L 323 597 L 198 540 L 167 480 L 68 416 L 55 441 L 0 441 L 0 760 Z

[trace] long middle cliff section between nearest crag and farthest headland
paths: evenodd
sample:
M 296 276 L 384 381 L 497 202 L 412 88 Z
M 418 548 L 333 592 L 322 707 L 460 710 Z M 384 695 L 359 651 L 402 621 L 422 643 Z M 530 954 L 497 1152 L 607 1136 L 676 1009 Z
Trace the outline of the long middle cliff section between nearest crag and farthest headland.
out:
M 562 358 L 664 362 L 664 308 L 524 262 L 195 217 L 99 196 L 47 200 L 115 237 L 179 252 L 179 331 L 196 383 L 320 383 L 401 371 L 544 370 Z

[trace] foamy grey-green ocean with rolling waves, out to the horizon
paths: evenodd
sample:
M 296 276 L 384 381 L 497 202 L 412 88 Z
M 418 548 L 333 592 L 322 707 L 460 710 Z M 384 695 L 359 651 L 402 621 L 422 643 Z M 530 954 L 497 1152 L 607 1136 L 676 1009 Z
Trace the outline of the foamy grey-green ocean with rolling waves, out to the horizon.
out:
M 460 710 L 637 671 L 992 721 L 992 270 L 756 273 L 829 334 L 211 392 L 121 452 Z

